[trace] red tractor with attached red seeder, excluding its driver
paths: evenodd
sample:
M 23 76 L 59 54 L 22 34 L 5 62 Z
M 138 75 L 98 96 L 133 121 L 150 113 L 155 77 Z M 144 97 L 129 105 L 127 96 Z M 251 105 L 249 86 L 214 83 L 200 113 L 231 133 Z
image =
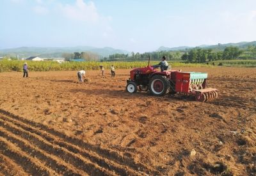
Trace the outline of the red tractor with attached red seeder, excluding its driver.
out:
M 177 70 L 158 71 L 154 66 L 135 68 L 130 71 L 126 90 L 130 93 L 150 91 L 155 96 L 183 93 L 195 96 L 196 101 L 210 101 L 218 97 L 218 90 L 206 88 L 207 73 L 182 72 Z

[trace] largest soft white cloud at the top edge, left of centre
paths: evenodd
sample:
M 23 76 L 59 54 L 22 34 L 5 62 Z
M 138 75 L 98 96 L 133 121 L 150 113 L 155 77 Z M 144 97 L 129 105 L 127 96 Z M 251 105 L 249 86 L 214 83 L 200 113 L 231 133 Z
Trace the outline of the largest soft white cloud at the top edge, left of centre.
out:
M 100 15 L 92 1 L 84 3 L 83 0 L 76 0 L 74 5 L 60 4 L 60 10 L 71 20 L 82 22 L 98 22 L 100 20 Z

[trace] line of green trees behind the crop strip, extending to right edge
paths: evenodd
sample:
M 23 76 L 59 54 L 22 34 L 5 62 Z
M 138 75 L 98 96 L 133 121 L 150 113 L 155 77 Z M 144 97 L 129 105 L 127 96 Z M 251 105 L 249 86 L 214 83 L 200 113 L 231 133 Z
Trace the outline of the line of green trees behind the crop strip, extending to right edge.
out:
M 84 61 L 145 61 L 150 56 L 152 60 L 159 60 L 165 55 L 168 60 L 182 59 L 190 63 L 204 63 L 217 60 L 231 59 L 256 59 L 256 46 L 248 46 L 244 49 L 238 47 L 226 47 L 223 51 L 214 51 L 211 48 L 192 48 L 185 51 L 156 51 L 156 52 L 131 52 L 131 54 L 111 54 L 109 57 L 102 57 L 93 52 L 63 53 L 66 61 L 72 59 L 83 59 Z

